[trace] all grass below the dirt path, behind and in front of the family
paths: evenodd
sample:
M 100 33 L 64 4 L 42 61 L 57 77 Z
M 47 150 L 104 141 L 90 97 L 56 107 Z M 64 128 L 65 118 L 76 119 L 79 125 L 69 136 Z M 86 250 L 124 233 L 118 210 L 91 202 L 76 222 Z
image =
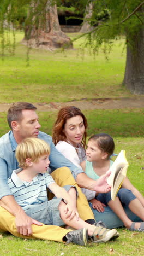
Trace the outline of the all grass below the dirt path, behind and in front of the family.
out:
M 121 149 L 126 150 L 129 161 L 128 178 L 131 183 L 144 195 L 143 189 L 143 109 L 121 110 L 87 110 L 83 111 L 88 119 L 88 136 L 93 133 L 107 132 L 115 140 L 115 153 Z M 52 112 L 39 112 L 41 131 L 51 135 L 53 121 L 56 119 L 57 110 Z M 9 131 L 6 113 L 0 113 L 0 135 Z M 136 124 L 136 125 L 135 125 Z M 52 241 L 22 240 L 9 234 L 0 237 L 0 255 L 143 255 L 143 234 L 118 229 L 120 237 L 117 241 L 110 241 L 101 245 L 89 245 L 87 248 L 68 245 Z M 0 233 L 1 234 L 1 233 Z M 13 245 L 13 246 L 12 246 Z M 64 253 L 64 254 L 61 254 Z

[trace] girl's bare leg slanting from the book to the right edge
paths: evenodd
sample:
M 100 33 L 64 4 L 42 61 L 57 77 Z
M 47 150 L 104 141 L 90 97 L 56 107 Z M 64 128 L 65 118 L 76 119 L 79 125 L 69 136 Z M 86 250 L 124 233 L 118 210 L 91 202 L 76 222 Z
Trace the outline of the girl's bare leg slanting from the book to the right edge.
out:
M 141 204 L 144 207 L 144 197 L 142 196 L 142 194 L 139 192 L 139 190 L 137 190 L 133 184 L 131 184 L 131 182 L 129 181 L 128 177 L 126 177 L 124 179 L 124 182 L 122 184 L 122 188 L 126 188 L 129 189 L 133 192 L 133 194 L 137 197 L 137 199 L 139 199 L 139 201 L 141 202 Z

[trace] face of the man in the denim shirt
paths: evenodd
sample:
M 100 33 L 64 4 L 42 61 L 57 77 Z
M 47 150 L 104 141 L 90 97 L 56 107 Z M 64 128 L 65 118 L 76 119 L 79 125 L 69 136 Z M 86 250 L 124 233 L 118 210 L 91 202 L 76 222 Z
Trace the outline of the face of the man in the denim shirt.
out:
M 21 140 L 27 137 L 38 137 L 41 127 L 38 121 L 38 115 L 31 109 L 22 110 L 22 120 L 17 122 L 17 127 Z

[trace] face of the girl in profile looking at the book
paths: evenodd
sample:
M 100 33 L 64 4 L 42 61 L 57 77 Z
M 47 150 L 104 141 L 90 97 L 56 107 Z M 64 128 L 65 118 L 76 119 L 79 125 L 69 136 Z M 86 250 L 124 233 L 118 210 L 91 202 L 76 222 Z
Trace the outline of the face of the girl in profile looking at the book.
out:
M 98 148 L 97 141 L 90 140 L 87 144 L 86 157 L 89 162 L 98 162 L 104 159 L 105 152 Z

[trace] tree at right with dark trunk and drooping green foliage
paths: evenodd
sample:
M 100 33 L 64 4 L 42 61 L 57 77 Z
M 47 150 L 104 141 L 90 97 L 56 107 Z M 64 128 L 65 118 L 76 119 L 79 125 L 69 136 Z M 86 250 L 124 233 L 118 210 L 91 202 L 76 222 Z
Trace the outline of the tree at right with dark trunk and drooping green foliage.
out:
M 127 58 L 123 84 L 133 94 L 144 94 L 144 1 L 97 0 L 94 4 L 95 16 L 106 8 L 109 10 L 110 18 L 101 21 L 99 26 L 86 33 L 85 45 L 92 47 L 95 52 L 103 45 L 107 56 L 114 40 L 125 34 Z M 95 20 L 96 22 L 98 20 Z

